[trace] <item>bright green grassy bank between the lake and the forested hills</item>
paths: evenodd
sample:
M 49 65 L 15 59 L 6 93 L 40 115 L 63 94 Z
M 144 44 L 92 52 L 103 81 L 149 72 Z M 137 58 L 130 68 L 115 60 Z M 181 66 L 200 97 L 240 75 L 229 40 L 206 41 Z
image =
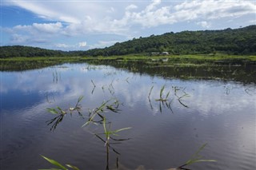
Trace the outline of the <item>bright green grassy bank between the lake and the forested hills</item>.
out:
M 227 54 L 197 54 L 197 55 L 168 55 L 168 56 L 146 56 L 127 55 L 112 57 L 10 57 L 0 58 L 1 71 L 18 71 L 27 69 L 40 69 L 51 65 L 63 63 L 90 64 L 122 64 L 141 65 L 143 67 L 162 66 L 216 66 L 216 65 L 256 65 L 256 56 L 234 56 Z

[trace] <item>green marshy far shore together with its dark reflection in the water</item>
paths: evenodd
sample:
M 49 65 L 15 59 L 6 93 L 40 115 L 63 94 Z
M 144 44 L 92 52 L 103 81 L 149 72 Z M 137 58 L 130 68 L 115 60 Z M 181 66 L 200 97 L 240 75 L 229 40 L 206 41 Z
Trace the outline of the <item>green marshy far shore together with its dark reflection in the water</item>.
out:
M 1 71 L 40 69 L 64 63 L 112 65 L 134 73 L 182 79 L 221 79 L 256 82 L 256 55 L 238 56 L 222 53 L 168 56 L 126 55 L 113 57 L 10 57 L 0 58 Z M 94 84 L 92 82 L 92 84 Z M 93 93 L 93 91 L 92 91 Z

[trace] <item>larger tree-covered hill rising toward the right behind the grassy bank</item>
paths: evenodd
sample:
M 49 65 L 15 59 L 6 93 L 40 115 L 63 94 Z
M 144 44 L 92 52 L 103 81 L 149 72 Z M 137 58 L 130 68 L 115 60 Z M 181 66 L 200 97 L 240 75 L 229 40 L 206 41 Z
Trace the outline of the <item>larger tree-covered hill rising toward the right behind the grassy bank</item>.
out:
M 187 53 L 230 53 L 256 54 L 256 26 L 239 29 L 182 31 L 151 35 L 148 38 L 134 38 L 128 42 L 116 43 L 105 49 L 90 49 L 85 55 L 111 56 L 130 53 L 169 52 Z

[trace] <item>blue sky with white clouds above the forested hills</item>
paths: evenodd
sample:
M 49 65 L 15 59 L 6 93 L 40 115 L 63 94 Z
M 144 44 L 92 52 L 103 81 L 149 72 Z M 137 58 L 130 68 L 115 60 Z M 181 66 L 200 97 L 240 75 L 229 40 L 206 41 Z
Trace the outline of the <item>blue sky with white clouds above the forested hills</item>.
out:
M 256 24 L 256 0 L 0 0 L 1 45 L 87 50 Z

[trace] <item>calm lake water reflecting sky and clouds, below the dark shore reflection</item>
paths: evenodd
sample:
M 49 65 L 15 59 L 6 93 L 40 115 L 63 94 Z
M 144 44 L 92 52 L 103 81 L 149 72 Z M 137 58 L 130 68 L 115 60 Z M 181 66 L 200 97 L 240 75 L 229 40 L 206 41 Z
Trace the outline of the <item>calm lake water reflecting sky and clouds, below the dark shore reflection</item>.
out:
M 157 101 L 160 97 L 167 101 Z M 202 162 L 186 168 L 256 169 L 256 86 L 239 81 L 180 80 L 130 73 L 106 65 L 65 64 L 1 72 L 1 169 L 53 167 L 47 156 L 80 169 L 167 169 L 189 160 L 202 144 Z M 83 96 L 80 112 L 69 109 Z M 88 121 L 103 102 L 106 126 L 118 132 L 110 144 L 104 128 Z M 54 127 L 47 108 L 68 114 Z M 58 109 L 56 109 L 58 110 Z M 98 117 L 99 118 L 99 117 Z M 46 122 L 48 121 L 48 122 Z M 52 128 L 50 130 L 50 128 Z M 102 139 L 104 136 L 102 136 Z M 107 160 L 108 159 L 108 160 Z

